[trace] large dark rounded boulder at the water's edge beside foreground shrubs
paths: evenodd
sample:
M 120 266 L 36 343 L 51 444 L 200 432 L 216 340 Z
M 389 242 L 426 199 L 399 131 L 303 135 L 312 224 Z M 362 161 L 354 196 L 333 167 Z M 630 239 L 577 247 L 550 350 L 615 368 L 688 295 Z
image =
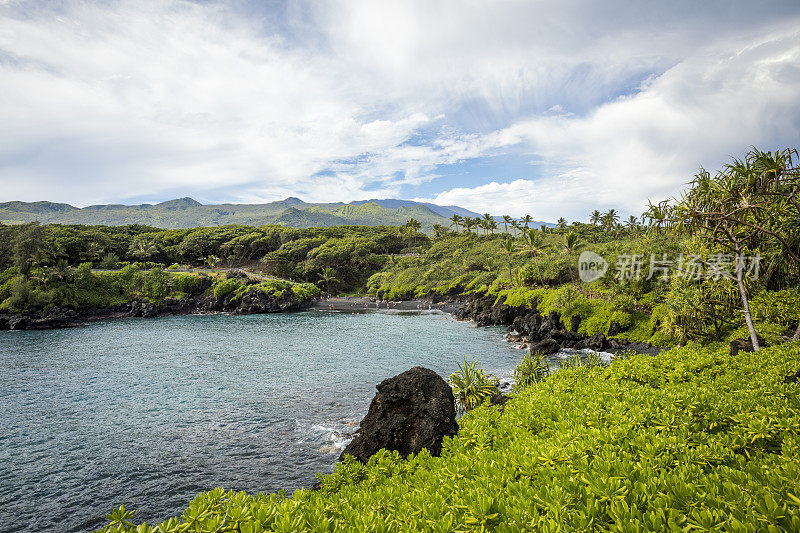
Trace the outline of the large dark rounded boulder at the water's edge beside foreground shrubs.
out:
M 426 448 L 438 456 L 444 437 L 458 432 L 453 391 L 433 370 L 415 366 L 376 388 L 358 435 L 339 460 L 352 455 L 366 463 L 382 448 L 403 457 Z

